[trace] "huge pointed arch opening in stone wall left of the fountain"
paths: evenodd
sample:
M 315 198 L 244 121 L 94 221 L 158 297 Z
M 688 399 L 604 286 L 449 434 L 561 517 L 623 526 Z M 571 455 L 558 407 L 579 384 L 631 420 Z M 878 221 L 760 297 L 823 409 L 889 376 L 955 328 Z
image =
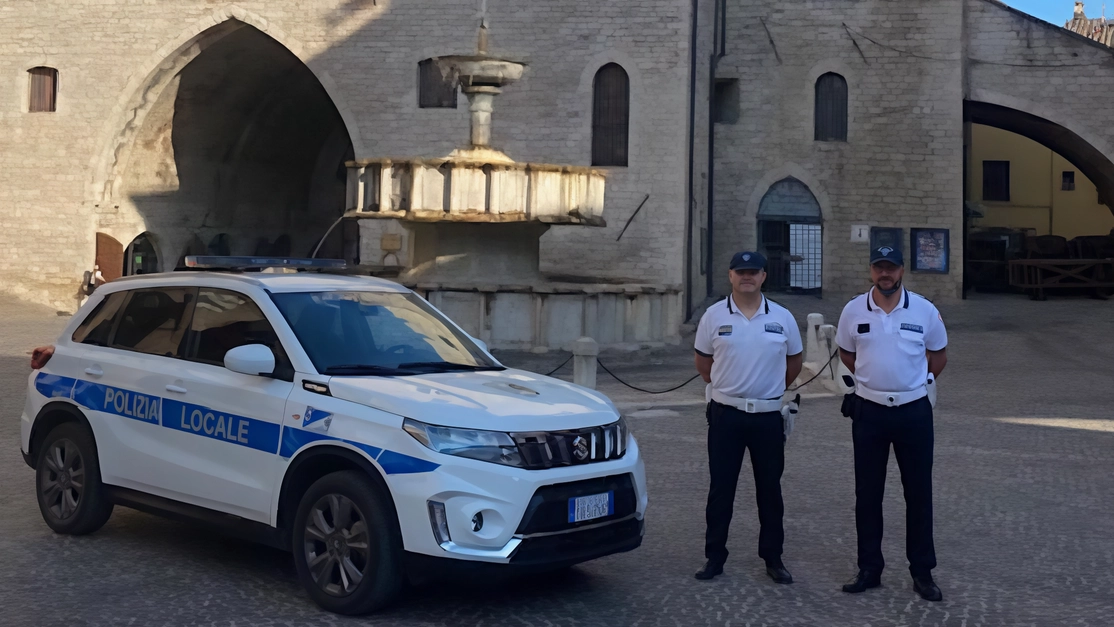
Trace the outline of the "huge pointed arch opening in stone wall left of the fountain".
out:
M 229 20 L 180 53 L 188 62 L 168 60 L 180 69 L 153 78 L 157 98 L 120 135 L 99 229 L 153 236 L 159 271 L 187 253 L 309 255 L 344 210 L 353 148 L 336 106 L 252 26 Z M 356 236 L 334 229 L 319 256 L 351 257 Z

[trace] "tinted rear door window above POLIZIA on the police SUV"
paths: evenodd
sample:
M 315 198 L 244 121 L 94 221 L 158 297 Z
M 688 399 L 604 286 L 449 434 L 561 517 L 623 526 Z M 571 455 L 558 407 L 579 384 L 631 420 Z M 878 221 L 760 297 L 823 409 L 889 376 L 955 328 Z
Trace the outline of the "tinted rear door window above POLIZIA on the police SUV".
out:
M 182 342 L 189 329 L 193 287 L 134 290 L 124 305 L 113 347 L 152 355 L 180 356 Z

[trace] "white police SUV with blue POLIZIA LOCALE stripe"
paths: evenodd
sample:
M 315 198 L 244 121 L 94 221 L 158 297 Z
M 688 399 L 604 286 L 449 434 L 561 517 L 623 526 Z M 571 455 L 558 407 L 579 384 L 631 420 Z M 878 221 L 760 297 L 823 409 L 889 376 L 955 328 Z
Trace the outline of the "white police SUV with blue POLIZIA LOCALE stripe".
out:
M 95 531 L 115 504 L 219 526 L 293 551 L 340 614 L 444 566 L 563 568 L 642 542 L 643 462 L 606 396 L 504 368 L 388 281 L 187 265 L 222 271 L 102 285 L 32 360 L 22 450 L 55 531 Z

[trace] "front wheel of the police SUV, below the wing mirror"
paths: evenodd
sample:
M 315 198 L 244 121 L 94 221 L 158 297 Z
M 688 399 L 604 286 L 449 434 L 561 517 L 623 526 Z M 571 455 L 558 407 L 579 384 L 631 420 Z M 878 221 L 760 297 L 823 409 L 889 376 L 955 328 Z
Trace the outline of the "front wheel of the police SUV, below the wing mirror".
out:
M 360 471 L 322 477 L 297 506 L 297 577 L 322 608 L 353 616 L 390 604 L 403 584 L 402 540 L 383 489 Z

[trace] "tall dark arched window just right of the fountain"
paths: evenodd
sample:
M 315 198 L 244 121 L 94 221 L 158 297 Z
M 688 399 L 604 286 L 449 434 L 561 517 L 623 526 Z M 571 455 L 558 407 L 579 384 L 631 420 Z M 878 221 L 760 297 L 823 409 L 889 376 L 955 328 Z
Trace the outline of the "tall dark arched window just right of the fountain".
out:
M 596 72 L 592 104 L 592 165 L 626 166 L 631 79 L 618 63 Z

